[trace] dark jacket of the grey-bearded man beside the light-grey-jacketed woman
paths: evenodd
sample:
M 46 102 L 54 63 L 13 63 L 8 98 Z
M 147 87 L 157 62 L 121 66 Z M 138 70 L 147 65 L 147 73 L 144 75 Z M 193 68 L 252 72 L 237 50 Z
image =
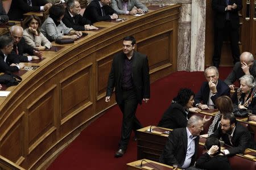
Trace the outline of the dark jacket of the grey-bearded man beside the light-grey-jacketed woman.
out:
M 75 20 L 75 22 L 74 22 Z M 68 12 L 68 9 L 65 11 L 65 15 L 62 19 L 62 22 L 68 27 L 68 28 L 73 28 L 76 31 L 84 31 L 84 25 L 91 24 L 89 19 L 82 18 L 82 16 L 75 15 L 74 19 L 71 17 L 71 15 Z

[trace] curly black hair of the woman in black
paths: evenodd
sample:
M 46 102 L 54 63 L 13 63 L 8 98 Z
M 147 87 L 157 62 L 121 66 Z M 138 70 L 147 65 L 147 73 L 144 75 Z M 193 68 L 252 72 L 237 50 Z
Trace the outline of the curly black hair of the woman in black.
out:
M 181 88 L 174 101 L 185 107 L 191 96 L 195 96 L 195 93 L 189 88 Z

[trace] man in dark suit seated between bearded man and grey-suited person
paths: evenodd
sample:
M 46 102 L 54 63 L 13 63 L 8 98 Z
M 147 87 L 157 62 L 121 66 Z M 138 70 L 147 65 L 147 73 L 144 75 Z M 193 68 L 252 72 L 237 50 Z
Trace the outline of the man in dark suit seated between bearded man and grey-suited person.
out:
M 118 15 L 112 7 L 109 6 L 111 0 L 93 0 L 84 11 L 82 17 L 89 19 L 92 23 L 102 20 L 117 19 Z

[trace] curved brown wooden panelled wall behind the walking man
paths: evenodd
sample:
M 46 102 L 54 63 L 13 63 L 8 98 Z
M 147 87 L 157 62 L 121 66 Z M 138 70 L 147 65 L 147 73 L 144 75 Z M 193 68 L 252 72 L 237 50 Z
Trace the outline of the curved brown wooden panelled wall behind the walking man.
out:
M 133 35 L 137 50 L 148 54 L 151 82 L 176 71 L 179 7 L 96 23 L 106 28 L 58 52 L 44 52 L 40 67 L 0 99 L 0 155 L 25 169 L 44 169 L 86 122 L 114 105 L 114 96 L 104 101 L 106 84 L 125 36 Z

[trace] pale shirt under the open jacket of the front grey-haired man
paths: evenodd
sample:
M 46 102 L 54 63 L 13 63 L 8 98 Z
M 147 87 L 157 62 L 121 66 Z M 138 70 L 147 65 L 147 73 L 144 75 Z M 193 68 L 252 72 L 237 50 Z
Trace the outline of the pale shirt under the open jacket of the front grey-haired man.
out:
M 190 133 L 188 128 L 186 128 L 186 130 L 187 130 L 187 135 L 188 135 L 188 145 L 187 145 L 186 158 L 181 167 L 183 169 L 186 169 L 189 167 L 189 165 L 191 163 L 192 156 L 195 154 L 195 139 L 196 139 L 196 137 L 193 137 L 193 135 Z

